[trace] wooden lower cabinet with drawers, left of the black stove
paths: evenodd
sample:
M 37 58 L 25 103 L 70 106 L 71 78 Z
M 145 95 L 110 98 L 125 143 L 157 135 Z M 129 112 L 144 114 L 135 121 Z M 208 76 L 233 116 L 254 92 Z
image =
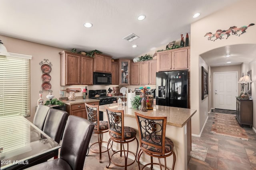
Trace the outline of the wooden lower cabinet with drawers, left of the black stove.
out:
M 99 105 L 99 102 L 90 102 L 87 103 L 90 105 Z M 73 105 L 66 105 L 66 111 L 68 112 L 69 115 L 75 115 L 78 117 L 82 117 L 84 119 L 87 119 L 87 113 L 85 109 L 84 103 L 82 104 L 73 104 Z

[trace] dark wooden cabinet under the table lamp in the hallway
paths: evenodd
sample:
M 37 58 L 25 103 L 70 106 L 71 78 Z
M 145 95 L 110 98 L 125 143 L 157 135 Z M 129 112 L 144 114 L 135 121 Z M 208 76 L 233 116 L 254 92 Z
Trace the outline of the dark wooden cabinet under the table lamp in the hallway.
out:
M 252 100 L 236 98 L 236 119 L 240 126 L 252 127 Z

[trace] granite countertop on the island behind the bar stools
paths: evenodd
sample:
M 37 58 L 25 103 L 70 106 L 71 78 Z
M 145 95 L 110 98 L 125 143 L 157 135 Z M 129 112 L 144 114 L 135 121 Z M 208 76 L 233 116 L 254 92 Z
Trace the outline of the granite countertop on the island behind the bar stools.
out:
M 110 109 L 118 110 L 117 104 L 106 104 L 99 107 L 100 111 L 106 112 L 106 107 Z M 180 107 L 169 107 L 169 106 L 159 106 L 154 105 L 154 109 L 148 111 L 140 111 L 138 109 L 128 108 L 127 106 L 122 106 L 124 109 L 124 116 L 134 117 L 134 111 L 146 115 L 146 116 L 166 116 L 167 125 L 172 125 L 176 127 L 183 127 L 186 125 L 187 121 L 196 113 L 196 109 L 185 109 Z

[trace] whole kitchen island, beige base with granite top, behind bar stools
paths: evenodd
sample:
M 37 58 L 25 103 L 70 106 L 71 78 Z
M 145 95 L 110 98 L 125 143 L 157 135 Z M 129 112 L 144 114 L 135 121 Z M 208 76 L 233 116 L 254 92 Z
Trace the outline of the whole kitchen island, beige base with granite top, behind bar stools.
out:
M 104 120 L 107 120 L 106 116 L 106 107 L 110 109 L 118 110 L 117 104 L 107 104 L 100 106 L 100 111 L 105 112 Z M 134 112 L 146 116 L 166 116 L 167 125 L 166 125 L 166 137 L 170 138 L 174 143 L 174 152 L 176 154 L 176 170 L 187 170 L 188 161 L 190 159 L 191 151 L 191 117 L 196 113 L 195 109 L 185 109 L 179 107 L 168 107 L 168 106 L 158 106 L 154 105 L 154 109 L 148 111 L 140 111 L 137 109 L 128 108 L 127 106 L 122 106 L 124 109 L 124 125 L 133 127 L 137 130 L 137 139 L 139 140 L 138 125 L 136 122 Z M 104 141 L 108 141 L 108 133 L 104 134 Z M 119 145 L 114 145 L 118 147 Z M 132 145 L 129 145 L 129 150 L 135 152 L 136 144 L 135 142 Z M 131 156 L 132 158 L 132 156 Z M 134 158 L 133 158 L 134 159 Z M 172 167 L 172 156 L 167 158 L 167 166 Z M 150 156 L 142 154 L 140 158 L 141 164 L 146 164 L 150 162 Z M 154 162 L 158 162 L 158 159 L 154 158 Z M 162 160 L 163 162 L 163 160 Z

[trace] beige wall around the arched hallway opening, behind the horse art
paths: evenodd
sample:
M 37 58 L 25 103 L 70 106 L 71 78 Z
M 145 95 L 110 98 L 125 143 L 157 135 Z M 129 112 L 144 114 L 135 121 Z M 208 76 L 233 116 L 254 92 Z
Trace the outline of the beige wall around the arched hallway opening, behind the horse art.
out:
M 255 23 L 256 11 L 255 0 L 241 0 L 234 4 L 230 4 L 228 8 L 219 10 L 216 13 L 202 18 L 191 24 L 191 108 L 196 109 L 197 113 L 192 117 L 192 133 L 194 135 L 200 135 L 202 131 L 202 125 L 206 121 L 204 114 L 205 105 L 207 102 L 201 100 L 201 63 L 200 54 L 223 47 L 226 45 L 243 44 L 243 43 L 256 43 L 256 26 L 250 27 L 246 33 L 240 37 L 231 35 L 228 39 L 208 41 L 204 35 L 207 32 L 215 32 L 217 29 L 228 29 L 230 26 L 242 26 Z M 212 71 L 211 71 L 212 72 Z M 209 97 L 209 96 L 208 96 Z M 207 106 L 208 108 L 208 106 Z

